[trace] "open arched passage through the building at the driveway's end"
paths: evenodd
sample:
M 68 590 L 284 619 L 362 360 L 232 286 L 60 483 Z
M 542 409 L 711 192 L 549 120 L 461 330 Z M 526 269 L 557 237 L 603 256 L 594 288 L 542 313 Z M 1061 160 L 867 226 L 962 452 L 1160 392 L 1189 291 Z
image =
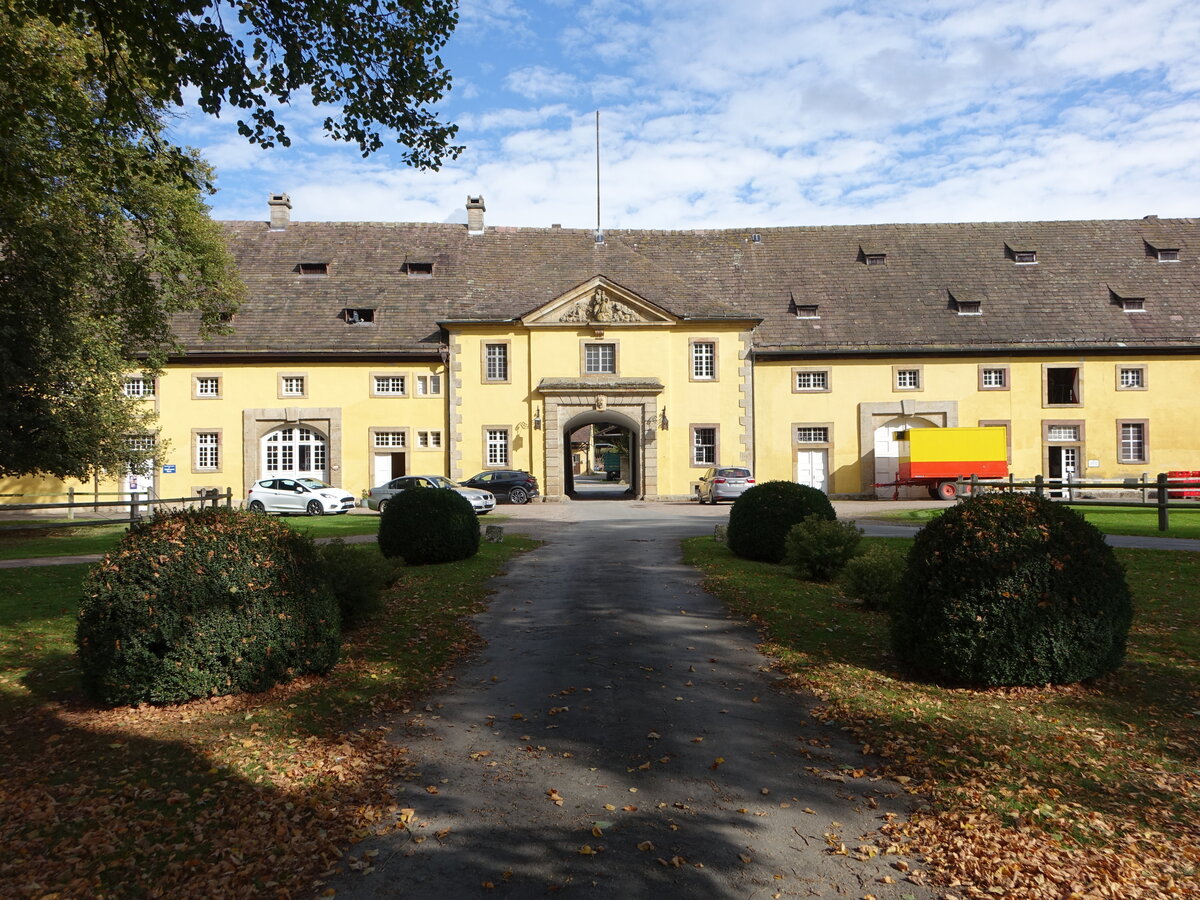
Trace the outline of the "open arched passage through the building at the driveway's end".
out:
M 613 409 L 593 409 L 571 416 L 563 426 L 566 496 L 576 500 L 641 497 L 640 456 L 637 422 L 628 415 Z

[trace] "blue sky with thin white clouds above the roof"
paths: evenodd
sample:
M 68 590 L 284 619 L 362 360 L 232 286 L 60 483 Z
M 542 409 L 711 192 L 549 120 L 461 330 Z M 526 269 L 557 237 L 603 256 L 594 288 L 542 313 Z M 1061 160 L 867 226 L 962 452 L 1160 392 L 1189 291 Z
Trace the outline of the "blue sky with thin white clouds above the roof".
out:
M 1200 16 L 1182 0 L 463 0 L 439 107 L 463 155 L 421 173 L 234 116 L 180 140 L 218 218 L 605 228 L 1200 215 Z

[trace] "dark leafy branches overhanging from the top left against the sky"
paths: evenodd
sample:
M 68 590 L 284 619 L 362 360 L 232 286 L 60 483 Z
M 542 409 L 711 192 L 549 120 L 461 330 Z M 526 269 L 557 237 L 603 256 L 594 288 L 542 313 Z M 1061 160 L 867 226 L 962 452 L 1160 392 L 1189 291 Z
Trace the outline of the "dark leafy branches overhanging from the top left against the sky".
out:
M 395 136 L 404 162 L 438 168 L 461 148 L 431 110 L 450 89 L 438 56 L 458 22 L 457 0 L 5 0 L 95 36 L 85 60 L 108 114 L 136 121 L 142 92 L 206 113 L 247 112 L 251 143 L 289 143 L 277 108 L 307 89 L 335 112 L 324 127 L 367 156 Z

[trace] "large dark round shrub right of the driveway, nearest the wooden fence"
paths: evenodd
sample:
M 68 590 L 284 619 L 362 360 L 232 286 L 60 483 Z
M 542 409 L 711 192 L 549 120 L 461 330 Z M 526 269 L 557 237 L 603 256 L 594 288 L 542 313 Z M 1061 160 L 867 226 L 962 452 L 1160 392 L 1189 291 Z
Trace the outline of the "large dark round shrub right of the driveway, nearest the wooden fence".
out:
M 983 494 L 917 534 L 890 612 L 893 648 L 913 671 L 998 686 L 1111 672 L 1133 606 L 1112 548 L 1081 516 Z

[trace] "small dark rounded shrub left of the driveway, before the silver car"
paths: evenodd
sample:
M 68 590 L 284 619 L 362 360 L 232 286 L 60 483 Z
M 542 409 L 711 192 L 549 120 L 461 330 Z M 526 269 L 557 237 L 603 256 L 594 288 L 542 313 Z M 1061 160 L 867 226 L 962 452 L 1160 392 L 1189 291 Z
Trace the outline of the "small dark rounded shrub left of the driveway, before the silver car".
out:
M 379 551 L 409 565 L 467 559 L 479 552 L 479 520 L 457 491 L 413 487 L 388 500 L 379 516 Z

